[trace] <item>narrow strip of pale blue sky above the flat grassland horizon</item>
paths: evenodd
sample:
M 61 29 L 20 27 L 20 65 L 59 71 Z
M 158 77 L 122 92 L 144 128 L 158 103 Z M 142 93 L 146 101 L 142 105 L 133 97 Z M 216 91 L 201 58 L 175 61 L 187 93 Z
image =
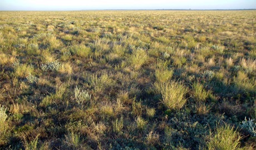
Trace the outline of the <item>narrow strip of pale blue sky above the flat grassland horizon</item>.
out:
M 256 0 L 0 0 L 0 11 L 256 9 Z

